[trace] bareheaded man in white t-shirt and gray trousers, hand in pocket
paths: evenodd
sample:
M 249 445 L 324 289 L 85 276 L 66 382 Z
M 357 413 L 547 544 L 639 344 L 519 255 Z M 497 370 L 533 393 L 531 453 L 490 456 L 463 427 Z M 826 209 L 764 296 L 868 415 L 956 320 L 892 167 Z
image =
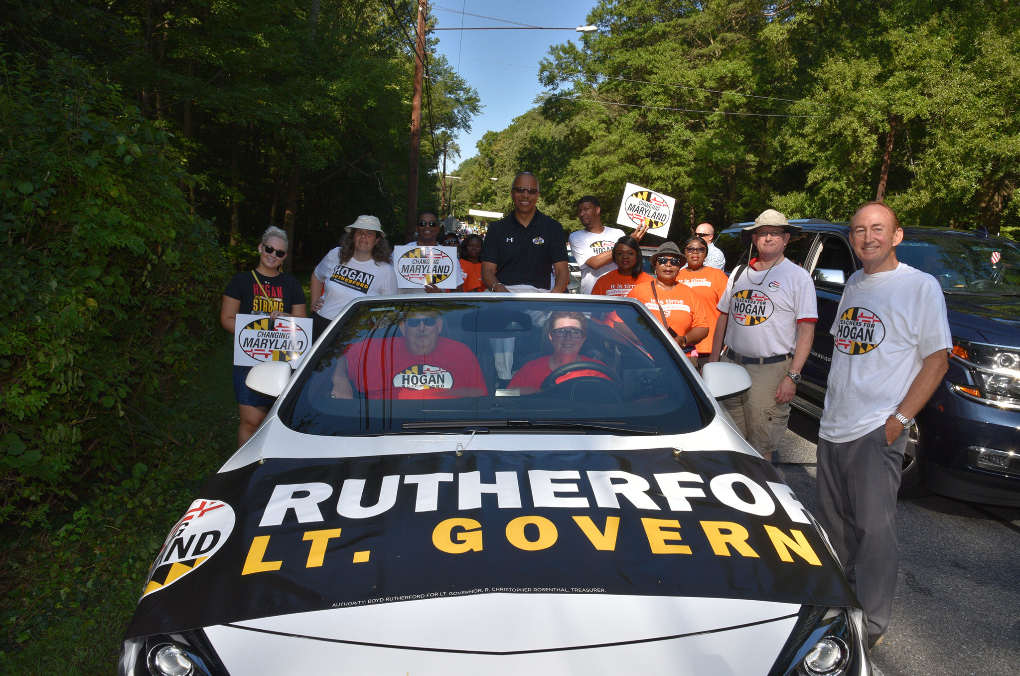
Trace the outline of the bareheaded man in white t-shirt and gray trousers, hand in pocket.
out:
M 818 521 L 868 616 L 869 647 L 889 623 L 900 565 L 897 491 L 913 417 L 948 369 L 946 297 L 931 275 L 900 262 L 903 230 L 882 202 L 850 225 L 863 270 L 844 287 L 825 409 L 818 428 Z

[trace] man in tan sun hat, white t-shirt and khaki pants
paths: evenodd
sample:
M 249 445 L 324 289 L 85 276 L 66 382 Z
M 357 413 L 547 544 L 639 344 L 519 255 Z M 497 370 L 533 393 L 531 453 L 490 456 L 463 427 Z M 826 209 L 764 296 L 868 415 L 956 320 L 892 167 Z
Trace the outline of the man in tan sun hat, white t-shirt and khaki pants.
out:
M 748 370 L 751 389 L 722 404 L 748 443 L 768 461 L 786 431 L 789 402 L 818 321 L 811 276 L 783 256 L 790 235 L 799 232 L 801 227 L 782 213 L 766 209 L 741 233 L 745 245 L 754 243 L 758 257 L 729 277 L 717 305 L 709 357 Z

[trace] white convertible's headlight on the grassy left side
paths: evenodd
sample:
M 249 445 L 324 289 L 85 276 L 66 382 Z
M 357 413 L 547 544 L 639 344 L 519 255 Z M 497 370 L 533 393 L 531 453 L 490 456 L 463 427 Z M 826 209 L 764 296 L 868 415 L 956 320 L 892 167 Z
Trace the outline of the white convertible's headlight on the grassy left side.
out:
M 226 669 L 199 629 L 125 640 L 117 676 L 226 676 Z

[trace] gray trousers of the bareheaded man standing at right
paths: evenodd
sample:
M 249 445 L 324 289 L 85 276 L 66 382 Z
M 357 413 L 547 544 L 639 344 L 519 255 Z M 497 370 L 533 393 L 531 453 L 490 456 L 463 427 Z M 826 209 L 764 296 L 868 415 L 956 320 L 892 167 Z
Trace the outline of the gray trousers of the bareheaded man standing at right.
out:
M 846 443 L 818 440 L 815 513 L 872 636 L 885 633 L 892 610 L 900 569 L 896 494 L 906 447 L 906 430 L 886 445 L 884 424 Z

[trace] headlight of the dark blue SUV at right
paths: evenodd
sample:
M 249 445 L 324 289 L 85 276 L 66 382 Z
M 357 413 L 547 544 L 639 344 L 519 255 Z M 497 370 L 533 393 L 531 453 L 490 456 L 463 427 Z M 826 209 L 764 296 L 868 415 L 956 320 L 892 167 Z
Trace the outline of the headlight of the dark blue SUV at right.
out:
M 953 356 L 975 385 L 954 384 L 955 391 L 981 403 L 1020 411 L 1020 350 L 954 340 Z

